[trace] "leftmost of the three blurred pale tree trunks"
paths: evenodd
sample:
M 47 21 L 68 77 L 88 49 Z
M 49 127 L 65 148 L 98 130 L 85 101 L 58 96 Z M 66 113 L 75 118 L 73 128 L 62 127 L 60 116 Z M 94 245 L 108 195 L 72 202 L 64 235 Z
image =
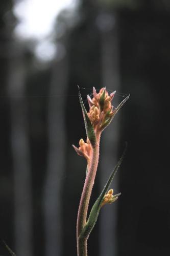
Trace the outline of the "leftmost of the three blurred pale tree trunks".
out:
M 28 109 L 25 94 L 26 66 L 22 47 L 16 45 L 15 42 L 11 42 L 11 44 L 8 96 L 11 112 L 11 150 L 14 170 L 16 255 L 32 256 L 32 185 Z

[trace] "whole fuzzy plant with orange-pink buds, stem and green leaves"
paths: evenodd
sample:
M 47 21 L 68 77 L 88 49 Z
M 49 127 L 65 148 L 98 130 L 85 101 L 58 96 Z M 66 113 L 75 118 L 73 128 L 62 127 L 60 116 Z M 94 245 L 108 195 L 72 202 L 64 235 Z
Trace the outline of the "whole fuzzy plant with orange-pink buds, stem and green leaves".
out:
M 118 196 L 113 195 L 113 189 L 108 191 L 108 188 L 114 178 L 114 175 L 123 160 L 123 156 L 118 161 L 117 165 L 113 169 L 101 195 L 95 201 L 91 208 L 88 220 L 87 211 L 90 201 L 91 191 L 95 180 L 96 170 L 99 163 L 99 145 L 101 133 L 110 124 L 115 114 L 122 107 L 122 105 L 129 98 L 127 96 L 117 108 L 113 108 L 111 101 L 115 92 L 110 95 L 106 91 L 106 88 L 102 88 L 97 94 L 95 88 L 93 88 L 93 98 L 91 99 L 87 95 L 90 110 L 87 113 L 79 89 L 79 99 L 83 112 L 85 129 L 87 134 L 87 140 L 83 139 L 79 141 L 79 148 L 72 145 L 79 156 L 83 156 L 87 160 L 87 172 L 86 179 L 82 191 L 82 196 L 79 204 L 78 219 L 77 219 L 77 249 L 78 256 L 87 256 L 87 239 L 92 231 L 96 220 L 98 219 L 99 212 L 105 204 L 111 204 L 117 200 Z

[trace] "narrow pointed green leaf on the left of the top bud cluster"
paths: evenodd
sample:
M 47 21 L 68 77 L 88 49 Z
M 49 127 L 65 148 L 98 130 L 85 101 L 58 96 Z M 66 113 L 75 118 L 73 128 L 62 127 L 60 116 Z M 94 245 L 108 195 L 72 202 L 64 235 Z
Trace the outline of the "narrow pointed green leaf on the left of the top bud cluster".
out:
M 79 86 L 78 86 L 78 89 L 79 89 L 79 100 L 80 100 L 81 108 L 82 108 L 82 111 L 83 111 L 83 117 L 84 117 L 86 134 L 87 134 L 87 137 L 89 138 L 91 146 L 94 148 L 95 145 L 96 145 L 95 132 L 94 132 L 93 126 L 91 124 L 91 121 L 90 121 L 90 119 L 88 117 L 87 111 L 85 109 L 85 106 L 84 106 L 84 103 L 83 103 L 83 100 L 82 100 L 82 96 L 81 96 L 81 93 L 80 93 L 80 87 Z

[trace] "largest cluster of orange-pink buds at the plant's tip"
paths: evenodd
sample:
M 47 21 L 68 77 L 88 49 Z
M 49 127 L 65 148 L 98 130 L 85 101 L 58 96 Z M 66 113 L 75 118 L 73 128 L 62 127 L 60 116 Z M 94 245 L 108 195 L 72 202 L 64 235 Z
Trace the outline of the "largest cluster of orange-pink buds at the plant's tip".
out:
M 103 131 L 104 128 L 110 123 L 114 115 L 113 106 L 111 101 L 116 91 L 110 95 L 106 88 L 102 88 L 99 93 L 96 93 L 93 87 L 93 98 L 87 95 L 87 100 L 90 106 L 88 117 L 95 130 Z

